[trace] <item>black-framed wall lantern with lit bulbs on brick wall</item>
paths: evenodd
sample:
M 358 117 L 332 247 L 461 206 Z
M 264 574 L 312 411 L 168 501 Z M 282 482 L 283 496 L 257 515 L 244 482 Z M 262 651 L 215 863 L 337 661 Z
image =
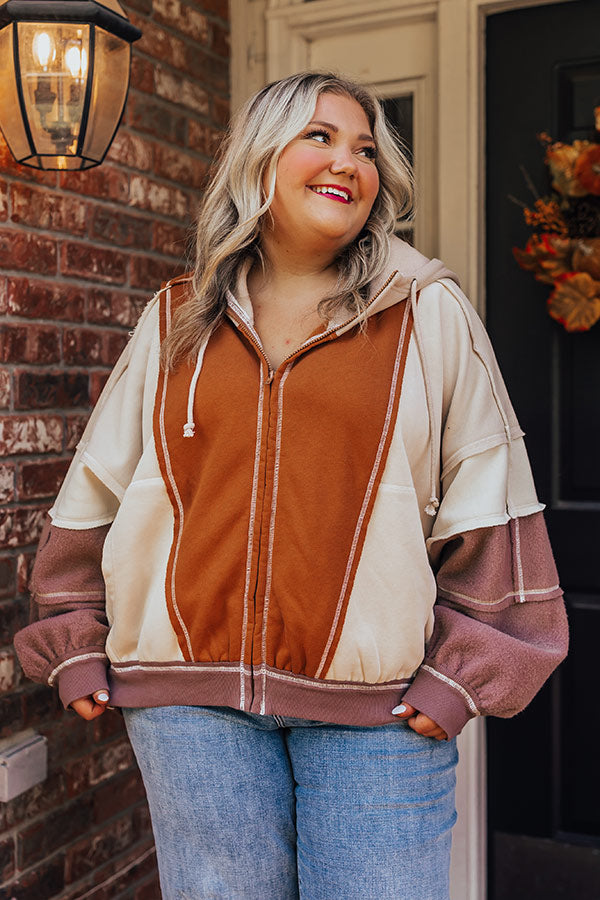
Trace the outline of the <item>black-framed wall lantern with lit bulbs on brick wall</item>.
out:
M 141 36 L 117 0 L 0 0 L 0 128 L 17 162 L 102 162 Z

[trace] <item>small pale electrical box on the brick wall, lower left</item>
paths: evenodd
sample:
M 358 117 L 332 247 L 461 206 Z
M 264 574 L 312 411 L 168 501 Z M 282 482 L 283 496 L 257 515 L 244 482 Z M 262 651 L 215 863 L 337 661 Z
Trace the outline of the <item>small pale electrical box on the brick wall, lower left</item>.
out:
M 48 772 L 48 741 L 32 729 L 0 742 L 0 802 L 6 803 L 40 781 Z

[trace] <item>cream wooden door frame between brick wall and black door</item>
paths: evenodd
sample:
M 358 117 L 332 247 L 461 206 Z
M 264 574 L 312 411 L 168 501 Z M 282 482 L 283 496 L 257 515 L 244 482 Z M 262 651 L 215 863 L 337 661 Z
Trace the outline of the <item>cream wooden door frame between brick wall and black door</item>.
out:
M 319 25 L 434 20 L 438 40 L 437 255 L 485 318 L 485 28 L 487 16 L 572 0 L 230 0 L 232 105 L 303 68 Z M 482 720 L 459 737 L 453 900 L 486 897 L 486 766 Z

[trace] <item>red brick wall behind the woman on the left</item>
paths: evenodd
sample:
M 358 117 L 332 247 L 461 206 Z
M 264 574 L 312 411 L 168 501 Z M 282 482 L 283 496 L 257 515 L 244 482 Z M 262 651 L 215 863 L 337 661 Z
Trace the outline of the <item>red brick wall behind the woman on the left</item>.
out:
M 0 738 L 48 737 L 47 780 L 0 803 L 0 900 L 158 900 L 143 789 L 121 717 L 86 723 L 26 681 L 40 524 L 90 407 L 188 227 L 228 118 L 227 0 L 130 0 L 127 109 L 85 173 L 14 164 L 0 137 Z

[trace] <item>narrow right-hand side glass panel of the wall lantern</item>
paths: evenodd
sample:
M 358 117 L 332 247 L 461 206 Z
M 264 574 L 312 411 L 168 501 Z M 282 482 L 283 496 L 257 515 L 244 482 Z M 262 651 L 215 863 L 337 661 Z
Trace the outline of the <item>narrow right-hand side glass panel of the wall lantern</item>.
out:
M 96 28 L 94 72 L 82 153 L 100 162 L 117 129 L 129 87 L 131 44 Z

